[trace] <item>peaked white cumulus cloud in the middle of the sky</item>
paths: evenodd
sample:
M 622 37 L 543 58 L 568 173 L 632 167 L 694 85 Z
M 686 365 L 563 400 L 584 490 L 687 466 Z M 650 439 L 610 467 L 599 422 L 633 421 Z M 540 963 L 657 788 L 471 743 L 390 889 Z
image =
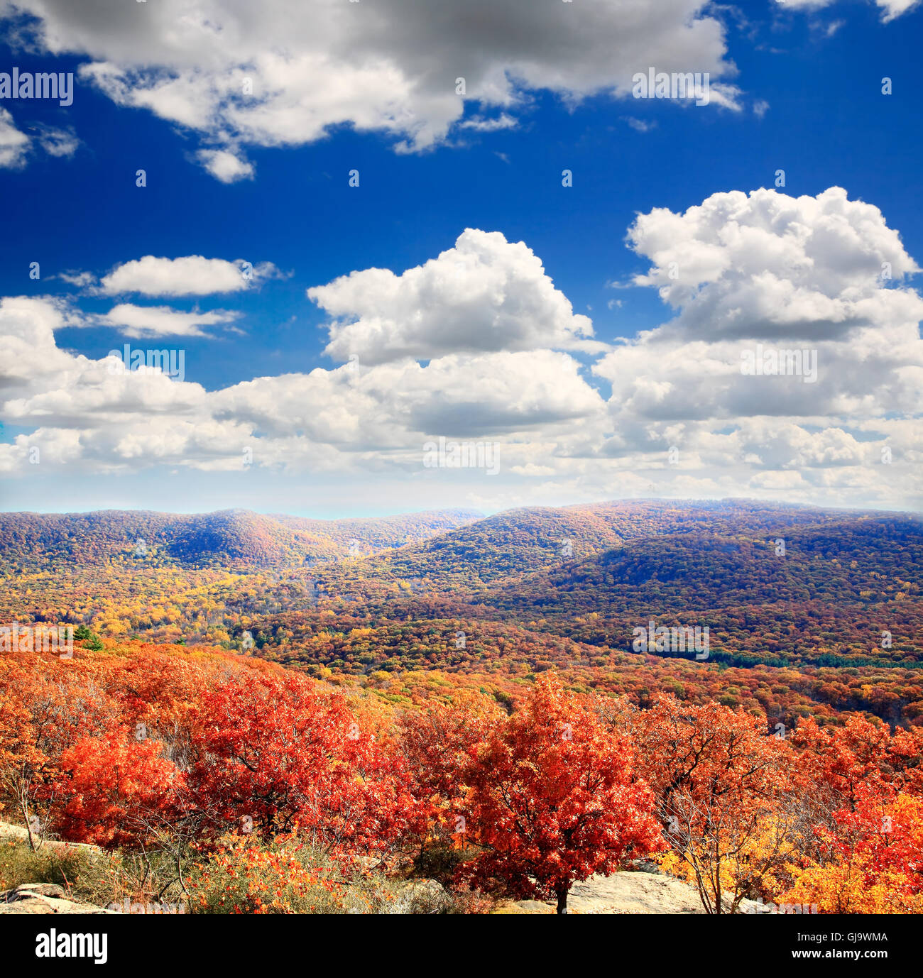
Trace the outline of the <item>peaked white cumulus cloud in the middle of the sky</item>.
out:
M 378 364 L 446 353 L 598 348 L 593 327 L 554 288 L 523 242 L 469 228 L 455 246 L 401 275 L 352 272 L 308 289 L 334 322 L 327 353 Z

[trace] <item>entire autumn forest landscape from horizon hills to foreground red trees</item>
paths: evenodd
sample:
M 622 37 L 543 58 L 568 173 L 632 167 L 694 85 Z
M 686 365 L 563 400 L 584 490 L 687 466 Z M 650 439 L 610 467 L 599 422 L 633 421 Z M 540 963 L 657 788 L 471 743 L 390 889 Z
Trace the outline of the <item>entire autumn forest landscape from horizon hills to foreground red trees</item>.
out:
M 0 819 L 111 849 L 95 899 L 564 907 L 643 859 L 709 912 L 923 910 L 915 515 L 6 513 L 0 541 Z M 72 654 L 10 638 L 68 626 Z

